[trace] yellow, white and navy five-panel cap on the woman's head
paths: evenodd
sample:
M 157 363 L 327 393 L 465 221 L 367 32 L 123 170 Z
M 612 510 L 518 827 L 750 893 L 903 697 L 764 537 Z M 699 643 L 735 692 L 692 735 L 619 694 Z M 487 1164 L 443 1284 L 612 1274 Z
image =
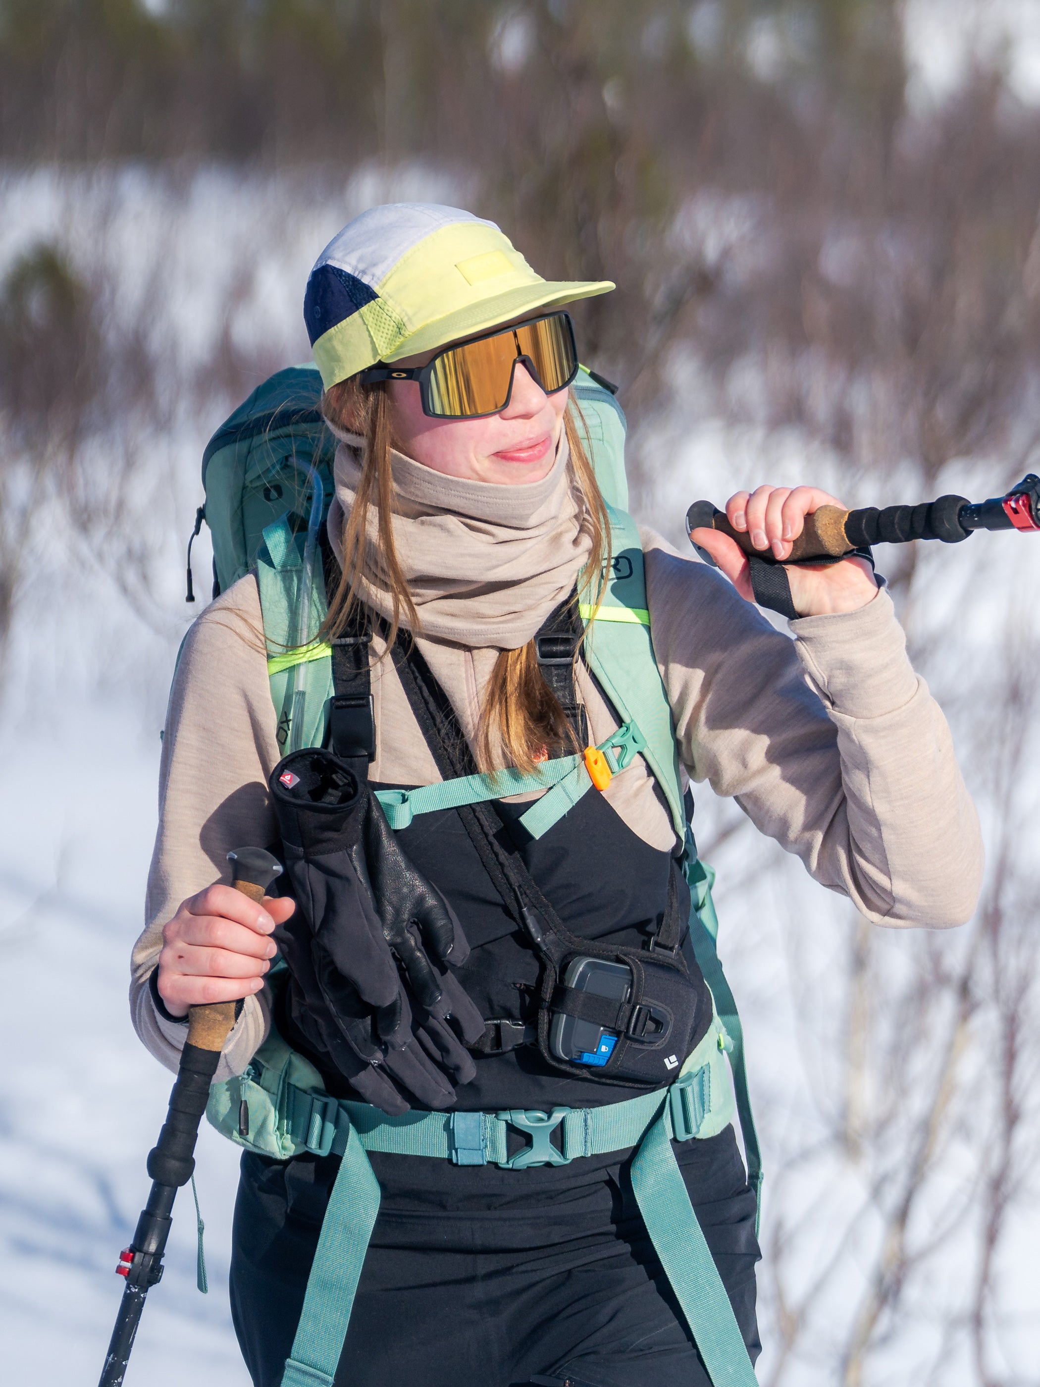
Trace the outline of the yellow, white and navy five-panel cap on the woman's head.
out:
M 437 203 L 373 207 L 318 257 L 304 320 L 327 390 L 379 361 L 401 361 L 610 280 L 545 280 L 494 222 Z

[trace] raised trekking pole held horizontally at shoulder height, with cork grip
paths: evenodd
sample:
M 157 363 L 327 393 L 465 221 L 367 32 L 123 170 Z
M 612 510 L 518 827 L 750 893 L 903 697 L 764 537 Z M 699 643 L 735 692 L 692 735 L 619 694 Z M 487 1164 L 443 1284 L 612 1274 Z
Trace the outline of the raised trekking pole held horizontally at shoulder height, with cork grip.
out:
M 746 530 L 734 530 L 725 512 L 710 501 L 695 501 L 686 512 L 686 534 L 702 527 L 728 534 L 745 553 L 765 563 L 778 562 L 767 549 L 756 549 Z M 1040 477 L 1030 472 L 1005 497 L 976 505 L 964 497 L 940 497 L 919 506 L 886 506 L 883 510 L 821 506 L 806 516 L 801 534 L 781 562 L 840 559 L 867 544 L 907 544 L 910 540 L 958 544 L 975 530 L 1040 530 Z

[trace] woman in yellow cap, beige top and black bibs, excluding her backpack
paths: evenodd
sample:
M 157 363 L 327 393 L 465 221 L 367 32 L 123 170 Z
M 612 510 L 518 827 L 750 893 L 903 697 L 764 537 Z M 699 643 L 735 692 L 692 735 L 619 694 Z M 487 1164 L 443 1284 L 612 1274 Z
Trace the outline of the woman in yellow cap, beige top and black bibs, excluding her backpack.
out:
M 318 929 L 320 911 L 300 872 L 326 868 L 313 857 L 304 864 L 305 845 L 297 852 L 298 804 L 290 800 L 309 771 L 291 757 L 284 766 L 300 775 L 280 761 L 252 574 L 196 623 L 175 678 L 148 927 L 135 951 L 133 1014 L 144 1043 L 176 1067 L 189 1007 L 241 1000 L 218 1075 L 225 1078 L 250 1062 L 275 1008 L 279 1031 L 315 1065 L 327 1093 L 351 1103 L 355 1126 L 390 1128 L 384 1114 L 408 1110 L 416 1122 L 427 1121 L 424 1108 L 484 1112 L 491 1117 L 470 1129 L 480 1146 L 492 1121 L 510 1128 L 495 1118 L 509 1114 L 503 1150 L 538 1147 L 551 1162 L 503 1169 L 483 1150 L 467 1154 L 458 1139 L 452 1160 L 369 1146 L 381 1203 L 337 1383 L 710 1380 L 711 1355 L 706 1343 L 699 1352 L 679 1308 L 682 1268 L 677 1276 L 666 1265 L 663 1275 L 661 1240 L 648 1236 L 653 1219 L 639 1190 L 635 1140 L 621 1150 L 589 1143 L 591 1154 L 562 1164 L 559 1137 L 534 1130 L 531 1119 L 542 1112 L 559 1122 L 566 1111 L 592 1130 L 606 1105 L 653 1104 L 671 1082 L 664 1072 L 625 1069 L 628 1060 L 607 1056 L 603 1064 L 567 1050 L 566 1037 L 577 1031 L 566 1026 L 602 1021 L 606 1003 L 577 997 L 585 983 L 581 968 L 574 972 L 575 951 L 552 956 L 546 920 L 588 951 L 581 967 L 589 976 L 606 961 L 636 992 L 649 989 L 636 1040 L 655 1026 L 684 1035 L 682 1053 L 666 1056 L 666 1065 L 714 1040 L 711 999 L 678 945 L 685 928 L 677 921 L 685 921 L 689 899 L 678 868 L 682 845 L 649 752 L 537 836 L 517 828 L 531 809 L 530 791 L 431 811 L 395 836 L 380 827 L 370 796 L 373 788 L 410 789 L 509 766 L 539 775 L 538 767 L 618 734 L 621 712 L 581 655 L 573 666 L 569 657 L 544 662 L 546 632 L 563 638 L 564 651 L 574 648 L 577 605 L 595 616 L 610 544 L 610 517 L 569 408 L 577 366 L 559 307 L 612 287 L 546 283 L 491 223 L 413 204 L 351 222 L 308 283 L 305 318 L 324 383 L 323 412 L 341 440 L 327 524 L 341 576 L 324 631 L 352 641 L 347 649 L 367 649 L 354 675 L 370 680 L 374 721 L 370 763 L 363 735 L 351 749 L 333 732 L 337 752 L 356 753 L 340 757 L 354 770 L 337 773 L 337 784 L 349 782 L 351 803 L 369 806 L 351 849 L 355 867 L 358 853 L 363 857 L 351 889 L 362 882 L 365 895 L 367 878 L 376 882 L 372 907 L 390 938 L 376 859 L 404 849 L 401 870 L 420 884 L 434 914 L 447 908 L 437 914 L 449 922 L 431 967 L 453 999 L 449 1007 L 433 1019 L 423 1010 L 422 986 L 402 953 L 415 949 L 416 931 L 412 945 L 395 936 L 397 971 L 385 994 L 374 975 L 358 972 L 372 939 L 381 946 L 379 933 L 363 936 L 361 953 L 340 950 L 338 974 L 329 965 L 340 982 L 351 975 L 352 990 L 330 992 L 301 956 L 300 942 Z M 734 495 L 727 513 L 759 549 L 782 560 L 803 517 L 828 502 L 811 487 L 764 485 Z M 729 583 L 641 533 L 653 652 L 684 777 L 736 796 L 763 832 L 867 918 L 928 927 L 968 920 L 982 871 L 978 820 L 946 723 L 907 660 L 871 565 L 849 558 L 786 569 L 799 613 L 788 639 L 754 609 L 738 546 L 714 531 L 696 538 Z M 362 635 L 369 645 L 358 645 Z M 362 721 L 365 703 L 354 700 Z M 230 847 L 279 839 L 287 863 L 295 863 L 290 885 L 298 908 L 288 895 L 258 907 L 211 885 L 216 874 L 227 879 Z M 544 914 L 524 900 L 541 902 Z M 337 929 L 359 928 L 361 906 L 352 924 L 345 907 L 337 910 Z M 291 974 L 277 996 L 265 981 L 277 951 L 272 933 Z M 336 945 L 330 949 L 334 954 Z M 559 986 L 546 990 L 546 970 L 557 964 Z M 668 1006 L 650 996 L 656 983 L 632 981 L 659 964 L 666 971 L 655 976 L 673 988 Z M 334 1014 L 337 996 L 351 999 L 340 1007 L 348 1019 Z M 693 1018 L 686 1031 L 681 1015 Z M 365 1037 L 355 1044 L 358 1028 Z M 391 1032 L 398 1039 L 388 1040 Z M 618 1056 L 628 1044 L 628 1032 L 616 1042 L 609 1029 L 599 1033 Z M 636 1040 L 627 1054 L 638 1058 Z M 354 1064 L 363 1054 L 369 1060 Z M 402 1056 L 412 1057 L 412 1068 Z M 526 1122 L 527 1130 L 517 1130 Z M 681 1135 L 675 1121 L 664 1144 L 725 1286 L 736 1341 L 742 1337 L 753 1361 L 756 1200 L 732 1125 L 711 1132 L 702 1122 L 685 1133 L 696 1140 L 668 1143 L 668 1135 Z M 250 1372 L 263 1387 L 283 1380 L 295 1354 L 338 1169 L 337 1154 L 243 1157 L 232 1302 Z M 728 1308 L 713 1313 L 732 1322 Z M 330 1381 L 331 1373 L 315 1376 L 304 1365 L 287 1369 L 284 1380 Z

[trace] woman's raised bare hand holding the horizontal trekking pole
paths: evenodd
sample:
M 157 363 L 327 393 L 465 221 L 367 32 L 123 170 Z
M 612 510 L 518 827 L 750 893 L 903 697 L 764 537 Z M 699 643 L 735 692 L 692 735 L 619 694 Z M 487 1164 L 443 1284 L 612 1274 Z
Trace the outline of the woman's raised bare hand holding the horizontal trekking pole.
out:
M 752 492 L 732 495 L 725 503 L 725 513 L 734 530 L 750 533 L 756 549 L 763 553 L 771 549 L 774 558 L 785 559 L 792 541 L 801 534 L 806 516 L 820 506 L 842 506 L 842 502 L 817 487 L 757 487 Z M 691 534 L 691 540 L 711 555 L 742 598 L 754 602 L 747 556 L 728 534 L 702 527 Z M 799 616 L 858 612 L 878 595 L 878 580 L 865 559 L 786 565 L 786 573 Z

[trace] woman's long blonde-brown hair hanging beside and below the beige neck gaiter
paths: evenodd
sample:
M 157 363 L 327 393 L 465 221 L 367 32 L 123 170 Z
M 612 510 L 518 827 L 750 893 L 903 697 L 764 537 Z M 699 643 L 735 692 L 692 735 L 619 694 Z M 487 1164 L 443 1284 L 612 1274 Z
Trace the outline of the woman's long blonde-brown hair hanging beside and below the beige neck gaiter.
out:
M 377 542 L 384 567 L 383 577 L 392 603 L 388 644 L 392 645 L 402 626 L 422 635 L 419 613 L 394 542 L 392 424 L 385 387 L 383 383 L 361 386 L 356 379 L 343 380 L 326 390 L 322 397 L 322 413 L 337 433 L 355 433 L 365 440 L 361 480 L 343 531 L 343 573 L 329 603 L 322 637 L 333 639 L 340 635 L 363 601 L 365 580 L 370 576 L 366 537 L 369 510 L 373 505 L 379 512 Z M 588 440 L 588 430 L 574 399 L 567 405 L 563 427 L 570 448 L 571 472 L 584 502 L 581 524 L 588 528 L 592 540 L 578 595 L 595 612 L 603 596 L 610 562 L 610 522 L 582 441 L 582 433 Z M 574 655 L 575 663 L 580 651 L 581 642 Z M 559 699 L 538 667 L 534 639 L 519 651 L 502 651 L 491 671 L 480 713 L 477 764 L 481 770 L 506 764 L 530 771 L 546 755 L 564 749 L 580 748 Z

